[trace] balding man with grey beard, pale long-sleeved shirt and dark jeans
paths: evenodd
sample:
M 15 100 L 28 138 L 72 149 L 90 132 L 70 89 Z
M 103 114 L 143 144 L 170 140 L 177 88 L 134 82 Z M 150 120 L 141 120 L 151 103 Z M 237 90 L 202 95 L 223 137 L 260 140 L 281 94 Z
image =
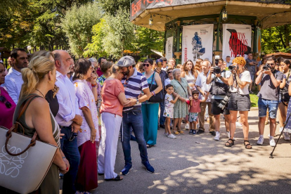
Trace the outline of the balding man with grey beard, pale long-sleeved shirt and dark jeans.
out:
M 67 51 L 53 51 L 56 65 L 56 86 L 59 110 L 56 121 L 60 125 L 62 134 L 60 139 L 60 149 L 70 163 L 70 170 L 64 175 L 63 193 L 76 193 L 75 179 L 78 172 L 80 154 L 77 146 L 77 135 L 82 125 L 82 117 L 79 112 L 78 98 L 75 86 L 67 77 L 72 65 L 72 58 Z

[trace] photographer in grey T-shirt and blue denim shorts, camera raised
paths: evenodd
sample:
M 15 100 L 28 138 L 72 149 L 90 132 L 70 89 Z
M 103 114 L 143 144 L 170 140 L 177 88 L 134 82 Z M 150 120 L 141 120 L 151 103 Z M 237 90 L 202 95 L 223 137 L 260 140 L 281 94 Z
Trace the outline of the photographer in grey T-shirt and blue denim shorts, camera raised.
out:
M 276 145 L 273 138 L 276 131 L 276 115 L 279 104 L 280 83 L 283 81 L 283 72 L 275 70 L 276 58 L 270 56 L 267 58 L 266 65 L 262 65 L 256 84 L 261 83 L 261 90 L 258 93 L 259 100 L 259 140 L 257 145 L 264 143 L 264 127 L 266 120 L 266 111 L 269 108 L 270 119 L 270 139 L 269 143 L 273 147 Z

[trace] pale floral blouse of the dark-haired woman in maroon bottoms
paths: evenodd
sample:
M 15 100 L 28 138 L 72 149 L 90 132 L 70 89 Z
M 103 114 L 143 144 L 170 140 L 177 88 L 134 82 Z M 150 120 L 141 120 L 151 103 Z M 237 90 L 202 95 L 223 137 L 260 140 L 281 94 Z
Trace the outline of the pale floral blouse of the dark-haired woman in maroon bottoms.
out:
M 73 82 L 73 84 L 75 86 L 76 96 L 78 98 L 79 109 L 86 106 L 87 108 L 89 108 L 89 110 L 91 110 L 93 124 L 96 129 L 95 141 L 99 141 L 100 136 L 98 127 L 98 113 L 93 92 L 91 91 L 89 84 L 84 79 L 83 80 L 77 79 Z M 82 111 L 81 117 L 83 119 L 83 122 L 81 130 L 78 133 L 77 138 L 78 147 L 85 143 L 86 141 L 89 141 L 91 138 L 91 129 L 88 123 L 86 122 L 86 119 Z

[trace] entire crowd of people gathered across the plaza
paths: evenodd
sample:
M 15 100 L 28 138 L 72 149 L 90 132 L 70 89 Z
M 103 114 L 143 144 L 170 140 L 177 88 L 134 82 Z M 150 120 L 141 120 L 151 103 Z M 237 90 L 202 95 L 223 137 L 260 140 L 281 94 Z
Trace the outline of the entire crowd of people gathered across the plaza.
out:
M 235 144 L 235 128 L 243 127 L 244 146 L 249 141 L 248 112 L 252 84 L 259 87 L 259 138 L 264 143 L 264 127 L 270 122 L 269 144 L 275 146 L 276 117 L 283 138 L 290 141 L 290 60 L 273 56 L 259 63 L 252 54 L 245 60 L 220 58 L 214 65 L 198 59 L 176 65 L 174 58 L 148 58 L 143 62 L 131 56 L 117 63 L 106 58 L 80 58 L 74 61 L 67 51 L 37 51 L 30 58 L 22 48 L 11 51 L 6 70 L 0 63 L 0 126 L 10 129 L 15 122 L 24 134 L 58 146 L 39 193 L 59 193 L 59 173 L 63 193 L 90 193 L 98 187 L 98 175 L 105 181 L 121 181 L 115 172 L 117 143 L 120 138 L 127 175 L 132 169 L 130 141 L 138 143 L 141 164 L 149 173 L 148 148 L 157 144 L 157 130 L 176 138 L 185 134 L 209 133 L 221 137 L 224 117 L 228 141 Z M 30 101 L 24 114 L 22 105 Z M 14 115 L 14 116 L 13 116 Z M 18 131 L 23 132 L 23 131 Z M 133 133 L 132 133 L 133 132 Z M 6 190 L 6 192 L 8 192 Z

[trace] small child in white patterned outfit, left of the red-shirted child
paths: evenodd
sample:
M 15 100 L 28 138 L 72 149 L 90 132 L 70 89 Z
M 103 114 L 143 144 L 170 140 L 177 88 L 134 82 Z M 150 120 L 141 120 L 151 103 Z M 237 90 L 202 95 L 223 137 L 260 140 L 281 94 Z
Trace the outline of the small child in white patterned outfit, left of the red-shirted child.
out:
M 164 96 L 164 117 L 166 117 L 164 136 L 167 136 L 168 138 L 176 138 L 174 134 L 171 134 L 170 123 L 174 115 L 174 103 L 176 103 L 180 95 L 177 94 L 175 100 L 173 101 L 172 93 L 174 91 L 174 87 L 171 84 L 167 84 L 166 91 L 167 94 Z

